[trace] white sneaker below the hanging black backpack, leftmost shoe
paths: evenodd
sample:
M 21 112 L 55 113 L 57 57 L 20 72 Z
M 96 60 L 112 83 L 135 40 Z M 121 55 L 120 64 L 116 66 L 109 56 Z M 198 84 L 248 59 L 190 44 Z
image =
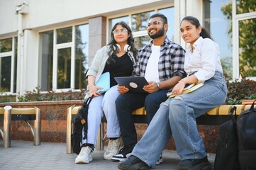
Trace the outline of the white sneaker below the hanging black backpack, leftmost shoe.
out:
M 77 156 L 77 158 L 75 160 L 75 163 L 76 164 L 88 164 L 89 162 L 91 162 L 92 161 L 91 152 L 92 152 L 91 147 L 89 147 L 89 146 L 82 147 L 79 155 Z

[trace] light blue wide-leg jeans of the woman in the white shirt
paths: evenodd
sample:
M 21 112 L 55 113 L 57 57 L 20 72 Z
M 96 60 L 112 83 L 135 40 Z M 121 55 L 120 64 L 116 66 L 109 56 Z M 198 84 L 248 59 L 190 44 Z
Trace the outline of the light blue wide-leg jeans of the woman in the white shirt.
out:
M 226 96 L 225 77 L 216 72 L 200 89 L 167 99 L 161 103 L 132 154 L 148 166 L 155 166 L 169 137 L 173 135 L 177 154 L 182 160 L 207 157 L 204 142 L 196 127 L 196 118 L 223 104 Z

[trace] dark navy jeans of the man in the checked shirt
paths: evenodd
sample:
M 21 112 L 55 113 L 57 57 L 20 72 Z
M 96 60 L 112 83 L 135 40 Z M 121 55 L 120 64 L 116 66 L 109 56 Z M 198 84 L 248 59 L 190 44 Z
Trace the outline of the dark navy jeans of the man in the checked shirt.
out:
M 145 106 L 148 123 L 157 112 L 160 103 L 166 101 L 167 90 L 160 90 L 152 94 L 127 93 L 121 94 L 116 99 L 116 113 L 123 137 L 123 145 L 137 143 L 137 132 L 135 130 L 132 112 Z

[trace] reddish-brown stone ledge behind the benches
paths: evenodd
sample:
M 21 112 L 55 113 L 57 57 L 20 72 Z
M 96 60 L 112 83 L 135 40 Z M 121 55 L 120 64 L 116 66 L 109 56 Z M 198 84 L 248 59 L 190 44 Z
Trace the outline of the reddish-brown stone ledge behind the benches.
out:
M 82 106 L 83 100 L 74 101 L 35 101 L 35 102 L 13 102 L 0 103 L 0 107 L 12 106 L 13 108 L 31 108 L 36 106 L 41 112 L 41 142 L 66 142 L 67 130 L 67 108 L 72 105 Z M 33 121 L 29 121 L 33 127 Z M 3 127 L 3 121 L 0 122 Z M 143 136 L 146 124 L 135 124 L 138 134 L 138 140 Z M 204 139 L 204 145 L 209 153 L 216 152 L 216 143 L 218 141 L 218 126 L 216 125 L 198 125 L 199 133 Z M 104 123 L 104 135 L 106 134 L 106 123 Z M 1 135 L 0 135 L 1 138 Z M 23 121 L 12 121 L 11 140 L 29 140 L 33 141 L 33 135 L 30 128 Z M 106 139 L 108 140 L 108 139 Z M 107 145 L 108 142 L 104 142 Z M 175 149 L 173 138 L 169 139 L 166 149 Z

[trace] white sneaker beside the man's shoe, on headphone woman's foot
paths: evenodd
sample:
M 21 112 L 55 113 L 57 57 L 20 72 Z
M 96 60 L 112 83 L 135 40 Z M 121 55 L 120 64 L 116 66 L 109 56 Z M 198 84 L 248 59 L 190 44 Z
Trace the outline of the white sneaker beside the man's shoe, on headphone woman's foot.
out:
M 119 147 L 120 147 L 120 137 L 118 137 L 116 140 L 109 140 L 108 141 L 108 148 L 106 149 L 106 152 L 104 153 L 104 159 L 111 159 L 114 155 L 118 153 Z

